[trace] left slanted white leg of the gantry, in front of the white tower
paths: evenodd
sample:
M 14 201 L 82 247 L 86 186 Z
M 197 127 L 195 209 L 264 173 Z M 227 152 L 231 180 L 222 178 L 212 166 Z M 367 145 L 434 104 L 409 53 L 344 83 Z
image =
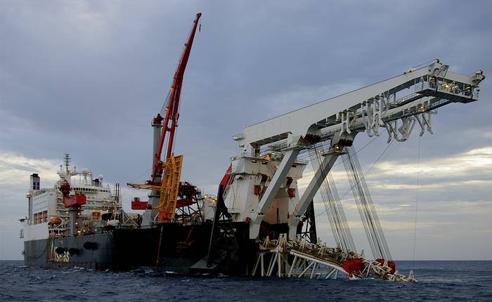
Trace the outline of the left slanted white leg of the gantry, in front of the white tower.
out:
M 250 239 L 256 239 L 258 237 L 259 225 L 261 224 L 261 221 L 263 221 L 263 216 L 277 195 L 280 185 L 284 183 L 285 177 L 287 177 L 287 173 L 289 173 L 292 164 L 294 164 L 297 155 L 299 155 L 299 152 L 299 148 L 293 148 L 285 152 L 282 162 L 280 162 L 280 166 L 278 166 L 277 171 L 273 175 L 268 188 L 266 188 L 266 191 L 258 204 L 257 216 L 250 224 Z

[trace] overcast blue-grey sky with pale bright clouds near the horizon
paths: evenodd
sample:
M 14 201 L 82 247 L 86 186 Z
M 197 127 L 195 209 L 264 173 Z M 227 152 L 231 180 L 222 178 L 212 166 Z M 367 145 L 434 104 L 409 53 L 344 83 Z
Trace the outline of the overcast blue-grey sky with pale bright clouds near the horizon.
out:
M 51 187 L 64 152 L 109 183 L 150 174 L 150 119 L 167 95 L 195 13 L 176 153 L 215 193 L 242 126 L 393 77 L 434 58 L 492 77 L 492 2 L 0 0 L 0 259 L 21 258 L 30 173 Z M 492 79 L 391 145 L 367 176 L 395 259 L 492 259 Z M 368 143 L 364 134 L 356 148 Z M 386 147 L 359 154 L 367 171 Z M 343 165 L 334 170 L 347 192 Z M 417 185 L 420 171 L 420 185 Z M 309 171 L 307 171 L 309 172 Z M 308 173 L 309 174 L 309 173 Z M 309 176 L 309 175 L 308 175 Z M 125 207 L 132 196 L 123 192 Z M 351 194 L 342 203 L 368 249 Z M 332 242 L 321 200 L 318 233 Z

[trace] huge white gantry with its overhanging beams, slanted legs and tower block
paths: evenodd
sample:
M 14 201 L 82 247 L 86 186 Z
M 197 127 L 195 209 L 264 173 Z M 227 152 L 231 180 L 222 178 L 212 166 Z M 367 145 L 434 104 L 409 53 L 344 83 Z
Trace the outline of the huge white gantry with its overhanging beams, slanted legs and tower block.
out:
M 297 160 L 299 152 L 330 140 L 331 151 L 323 154 L 318 168 L 326 175 L 339 151 L 351 145 L 357 133 L 379 136 L 384 128 L 388 142 L 407 140 L 415 127 L 421 136 L 425 131 L 432 133 L 431 117 L 436 109 L 478 100 L 484 78 L 481 71 L 458 74 L 434 60 L 391 79 L 245 126 L 242 134 L 234 136 L 240 154 L 232 158 L 231 177 L 224 190 L 229 213 L 235 221 L 250 221 L 251 239 L 259 236 L 262 221 L 287 223 L 288 239 L 295 239 L 297 225 L 320 187 L 313 178 L 299 196 L 297 180 L 306 166 Z

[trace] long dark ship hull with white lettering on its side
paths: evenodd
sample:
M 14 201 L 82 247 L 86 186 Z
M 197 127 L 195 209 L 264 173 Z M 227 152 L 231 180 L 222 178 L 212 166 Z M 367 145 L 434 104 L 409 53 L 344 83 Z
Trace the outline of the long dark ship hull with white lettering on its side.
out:
M 238 257 L 231 265 L 207 265 L 212 223 L 165 223 L 157 228 L 115 229 L 93 235 L 31 240 L 24 243 L 24 259 L 26 265 L 45 268 L 154 269 L 161 241 L 158 270 L 244 275 L 257 254 L 257 244 L 249 239 L 249 225 L 233 223 L 232 226 Z

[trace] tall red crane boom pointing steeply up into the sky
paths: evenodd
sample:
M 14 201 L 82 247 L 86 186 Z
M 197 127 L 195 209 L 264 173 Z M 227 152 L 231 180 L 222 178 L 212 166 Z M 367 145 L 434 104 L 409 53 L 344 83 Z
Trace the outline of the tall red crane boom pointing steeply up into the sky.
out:
M 193 26 L 191 27 L 190 34 L 188 35 L 188 40 L 181 53 L 181 58 L 179 59 L 178 67 L 176 67 L 176 72 L 174 73 L 173 83 L 171 85 L 171 90 L 169 91 L 169 98 L 167 99 L 164 117 L 161 114 L 157 114 L 154 121 L 162 122 L 163 128 L 160 135 L 159 145 L 157 147 L 157 152 L 154 155 L 153 173 L 150 178 L 150 182 L 155 181 L 155 176 L 162 174 L 162 162 L 171 157 L 173 145 L 174 145 L 174 133 L 176 131 L 176 126 L 178 126 L 179 119 L 179 99 L 181 96 L 181 86 L 183 84 L 183 76 L 186 70 L 186 64 L 188 63 L 188 58 L 190 57 L 191 46 L 193 46 L 193 39 L 195 39 L 195 32 L 198 27 L 198 20 L 202 13 L 197 13 L 195 20 L 193 21 Z M 167 133 L 169 132 L 169 137 Z M 164 161 L 161 160 L 162 147 L 167 138 L 167 152 Z

